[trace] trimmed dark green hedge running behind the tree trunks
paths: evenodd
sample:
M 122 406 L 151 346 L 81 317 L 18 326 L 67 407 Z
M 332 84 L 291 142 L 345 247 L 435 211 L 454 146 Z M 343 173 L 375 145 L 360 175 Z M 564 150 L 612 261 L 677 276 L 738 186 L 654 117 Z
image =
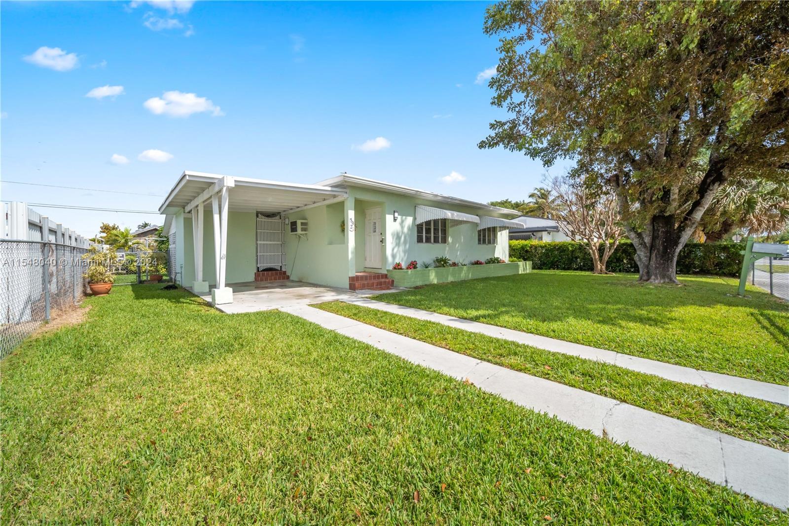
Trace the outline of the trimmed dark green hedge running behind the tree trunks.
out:
M 739 276 L 744 243 L 689 242 L 679 252 L 680 274 Z M 510 257 L 531 261 L 533 269 L 592 270 L 592 257 L 582 243 L 574 241 L 510 241 Z M 635 249 L 629 241 L 620 242 L 608 258 L 609 272 L 638 272 Z

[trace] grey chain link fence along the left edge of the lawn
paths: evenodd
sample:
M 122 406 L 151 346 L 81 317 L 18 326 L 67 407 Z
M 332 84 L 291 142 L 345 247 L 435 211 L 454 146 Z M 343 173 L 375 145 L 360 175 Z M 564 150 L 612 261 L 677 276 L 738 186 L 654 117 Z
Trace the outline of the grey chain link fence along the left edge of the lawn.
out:
M 45 241 L 0 241 L 0 359 L 53 312 L 80 302 L 87 250 Z

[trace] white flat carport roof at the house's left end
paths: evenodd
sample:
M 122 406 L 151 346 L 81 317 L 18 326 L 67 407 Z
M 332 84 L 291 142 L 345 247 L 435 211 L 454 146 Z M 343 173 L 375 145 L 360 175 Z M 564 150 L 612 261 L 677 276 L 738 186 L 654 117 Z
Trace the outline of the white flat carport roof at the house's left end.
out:
M 348 194 L 342 188 L 331 186 L 185 171 L 159 206 L 159 212 L 172 214 L 179 209 L 190 212 L 201 203 L 210 203 L 211 195 L 222 187 L 227 187 L 229 192 L 230 212 L 290 212 L 323 201 L 338 201 Z

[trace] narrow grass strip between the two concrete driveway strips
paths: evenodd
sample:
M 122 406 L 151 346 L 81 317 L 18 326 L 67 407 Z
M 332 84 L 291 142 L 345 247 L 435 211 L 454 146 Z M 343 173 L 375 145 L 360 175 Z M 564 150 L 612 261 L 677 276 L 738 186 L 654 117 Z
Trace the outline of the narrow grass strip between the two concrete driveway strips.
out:
M 789 451 L 789 408 L 786 406 L 365 306 L 346 302 L 315 306 L 476 359 Z

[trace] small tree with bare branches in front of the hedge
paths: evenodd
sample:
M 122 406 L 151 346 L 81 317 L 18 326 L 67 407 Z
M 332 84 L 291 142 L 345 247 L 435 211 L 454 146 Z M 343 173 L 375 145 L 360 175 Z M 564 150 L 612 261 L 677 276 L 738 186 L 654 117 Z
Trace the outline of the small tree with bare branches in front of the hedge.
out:
M 604 187 L 589 188 L 583 181 L 567 176 L 553 178 L 551 190 L 555 193 L 551 213 L 559 230 L 584 243 L 592 256 L 595 274 L 610 274 L 605 268 L 608 257 L 624 237 L 614 193 Z

